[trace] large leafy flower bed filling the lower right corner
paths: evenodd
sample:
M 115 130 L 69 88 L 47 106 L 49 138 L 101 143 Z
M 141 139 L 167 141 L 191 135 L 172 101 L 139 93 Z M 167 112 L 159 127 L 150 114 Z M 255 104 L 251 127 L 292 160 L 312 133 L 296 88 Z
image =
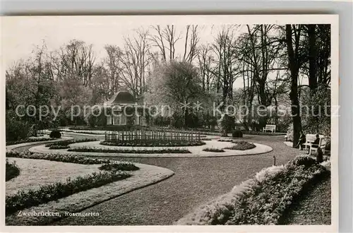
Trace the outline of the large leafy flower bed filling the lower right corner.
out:
M 177 225 L 275 225 L 302 191 L 329 171 L 309 156 L 258 172 L 253 179 L 234 186 Z

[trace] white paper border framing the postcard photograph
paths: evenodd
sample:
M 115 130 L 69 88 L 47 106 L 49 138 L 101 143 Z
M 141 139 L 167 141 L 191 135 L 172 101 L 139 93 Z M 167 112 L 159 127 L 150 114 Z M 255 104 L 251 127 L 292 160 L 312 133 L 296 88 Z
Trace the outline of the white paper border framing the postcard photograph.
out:
M 298 3 L 300 4 L 300 3 Z M 33 20 L 38 27 L 42 23 L 102 23 L 114 25 L 116 20 L 124 20 L 131 24 L 331 24 L 331 103 L 338 106 L 338 16 L 337 15 L 222 15 L 222 16 L 13 16 L 1 17 L 1 25 L 13 24 L 22 20 Z M 116 25 L 116 24 L 115 24 Z M 127 25 L 124 25 L 126 27 Z M 1 33 L 2 35 L 2 33 Z M 2 41 L 5 46 L 6 41 Z M 2 48 L 1 48 L 2 49 Z M 5 62 L 1 61 L 1 88 L 5 87 Z M 3 100 L 5 91 L 2 91 Z M 2 109 L 5 109 L 5 101 L 1 101 Z M 4 112 L 4 111 L 3 111 Z M 1 129 L 5 129 L 5 117 L 1 118 Z M 332 224 L 330 226 L 119 226 L 119 227 L 3 227 L 4 226 L 4 201 L 1 201 L 1 227 L 5 232 L 337 232 L 338 230 L 338 117 L 331 119 L 331 174 L 332 174 Z M 1 148 L 5 149 L 5 131 L 1 133 Z M 1 160 L 1 165 L 5 158 Z M 5 196 L 4 169 L 1 169 L 1 197 Z M 318 207 L 320 208 L 320 207 Z

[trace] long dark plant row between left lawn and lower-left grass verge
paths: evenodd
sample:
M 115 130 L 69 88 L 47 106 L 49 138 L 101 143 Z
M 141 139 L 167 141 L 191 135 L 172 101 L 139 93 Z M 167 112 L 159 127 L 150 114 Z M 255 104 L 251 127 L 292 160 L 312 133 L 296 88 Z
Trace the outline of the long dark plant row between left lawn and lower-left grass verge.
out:
M 18 210 L 30 208 L 40 204 L 56 201 L 59 198 L 70 196 L 74 193 L 97 188 L 121 179 L 131 177 L 125 172 L 93 172 L 84 177 L 67 179 L 66 182 L 56 182 L 40 186 L 39 189 L 29 189 L 28 191 L 18 191 L 18 193 L 6 196 L 6 215 L 11 215 Z

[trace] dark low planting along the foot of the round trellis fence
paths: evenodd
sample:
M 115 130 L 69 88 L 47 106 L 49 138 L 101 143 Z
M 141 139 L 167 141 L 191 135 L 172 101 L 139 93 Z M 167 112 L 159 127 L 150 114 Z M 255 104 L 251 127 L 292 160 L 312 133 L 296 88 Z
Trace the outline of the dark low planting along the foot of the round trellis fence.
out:
M 163 140 L 150 140 L 150 141 L 102 141 L 101 145 L 114 145 L 114 146 L 194 146 L 205 145 L 203 141 L 163 141 Z

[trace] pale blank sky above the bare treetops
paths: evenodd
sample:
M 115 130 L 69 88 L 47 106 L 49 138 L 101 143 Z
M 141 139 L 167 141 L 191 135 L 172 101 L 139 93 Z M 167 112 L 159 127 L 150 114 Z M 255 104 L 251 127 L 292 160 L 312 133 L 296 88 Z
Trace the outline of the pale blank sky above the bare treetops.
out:
M 114 44 L 124 47 L 124 37 L 132 36 L 134 30 L 138 28 L 148 28 L 156 17 L 149 21 L 131 20 L 128 16 L 118 18 L 86 18 L 86 17 L 62 17 L 52 16 L 50 18 L 43 17 L 23 17 L 17 20 L 8 20 L 2 25 L 2 60 L 3 67 L 10 67 L 19 59 L 28 59 L 31 52 L 36 46 L 41 46 L 43 40 L 49 51 L 59 49 L 69 40 L 82 40 L 86 44 L 92 44 L 97 61 L 106 56 L 104 46 L 106 44 Z M 196 18 L 195 20 L 199 20 Z M 193 21 L 195 21 L 193 20 Z M 166 21 L 167 22 L 167 21 Z M 200 44 L 212 43 L 217 35 L 217 31 L 224 24 L 217 24 L 215 21 L 202 20 L 203 24 L 198 25 Z M 160 24 L 160 21 L 156 21 Z M 174 25 L 177 32 L 184 32 L 186 24 L 190 21 L 183 22 L 177 20 Z M 152 24 L 155 25 L 155 24 Z M 161 26 L 164 25 L 161 23 Z M 238 36 L 246 31 L 246 25 L 237 28 L 235 35 Z M 181 34 L 185 35 L 185 32 Z M 4 46 L 6 44 L 6 46 Z M 184 41 L 179 40 L 176 45 L 176 53 L 184 53 Z M 243 86 L 242 79 L 239 78 L 234 83 L 234 88 Z

